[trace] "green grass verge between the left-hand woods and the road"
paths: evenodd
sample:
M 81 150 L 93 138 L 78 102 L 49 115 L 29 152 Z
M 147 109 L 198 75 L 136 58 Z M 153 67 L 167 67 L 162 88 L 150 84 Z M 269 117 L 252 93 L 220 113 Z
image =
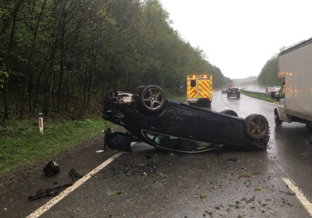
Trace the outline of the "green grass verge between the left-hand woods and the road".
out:
M 100 118 L 55 122 L 43 119 L 43 124 L 43 135 L 39 134 L 37 119 L 0 126 L 0 175 L 48 159 L 101 134 L 105 126 Z

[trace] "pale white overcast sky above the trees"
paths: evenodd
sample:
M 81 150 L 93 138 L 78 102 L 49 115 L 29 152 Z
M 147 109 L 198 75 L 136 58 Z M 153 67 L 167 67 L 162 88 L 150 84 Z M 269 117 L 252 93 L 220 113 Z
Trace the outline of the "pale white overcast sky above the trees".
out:
M 161 0 L 173 27 L 225 76 L 258 75 L 266 61 L 312 36 L 312 0 Z

